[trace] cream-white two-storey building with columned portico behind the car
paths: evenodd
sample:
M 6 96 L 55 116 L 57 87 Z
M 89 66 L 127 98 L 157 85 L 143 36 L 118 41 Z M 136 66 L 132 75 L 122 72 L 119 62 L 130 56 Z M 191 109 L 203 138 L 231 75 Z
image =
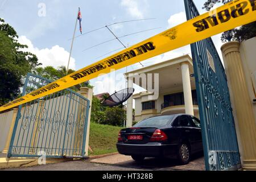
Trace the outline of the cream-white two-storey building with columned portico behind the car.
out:
M 135 102 L 135 121 L 141 121 L 154 115 L 179 113 L 191 114 L 199 118 L 193 63 L 189 55 L 125 73 L 125 77 L 128 77 L 129 74 L 141 75 L 142 73 L 146 75 L 159 73 L 159 96 L 150 100 L 148 96 L 152 96 L 154 93 L 148 92 L 148 80 L 145 84 L 141 78 L 138 83 L 138 78 L 135 81 L 134 76 L 130 76 L 129 80 L 133 81 L 129 81 L 129 87 L 137 84 L 147 92 L 134 94 L 133 98 L 127 101 L 127 127 L 131 127 L 133 122 L 133 102 Z M 155 84 L 155 81 L 153 76 L 152 85 Z

